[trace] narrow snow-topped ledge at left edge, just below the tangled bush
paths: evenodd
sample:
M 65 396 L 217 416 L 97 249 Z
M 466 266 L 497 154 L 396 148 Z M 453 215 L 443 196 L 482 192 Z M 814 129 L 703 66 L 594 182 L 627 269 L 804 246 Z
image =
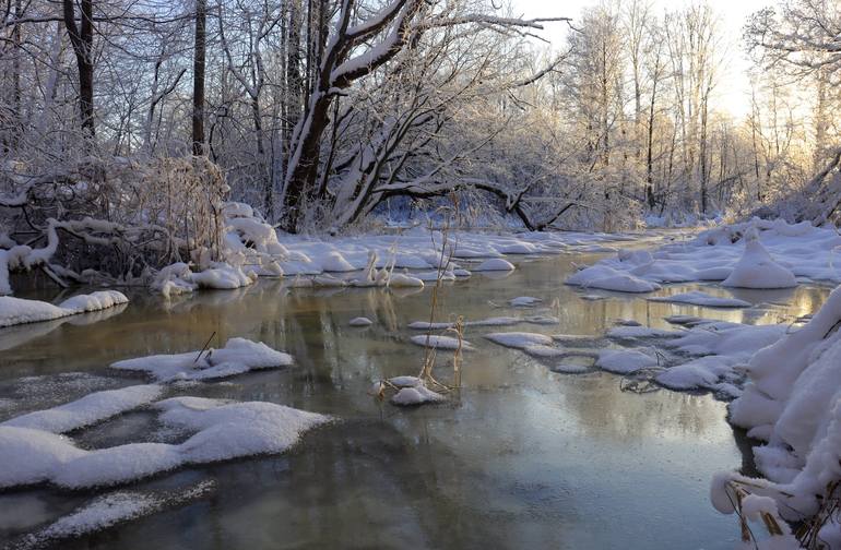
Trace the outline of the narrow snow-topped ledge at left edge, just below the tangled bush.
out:
M 69 315 L 99 311 L 128 303 L 129 299 L 117 290 L 97 290 L 90 295 L 68 298 L 58 306 L 39 301 L 0 296 L 0 327 L 23 323 L 51 321 Z

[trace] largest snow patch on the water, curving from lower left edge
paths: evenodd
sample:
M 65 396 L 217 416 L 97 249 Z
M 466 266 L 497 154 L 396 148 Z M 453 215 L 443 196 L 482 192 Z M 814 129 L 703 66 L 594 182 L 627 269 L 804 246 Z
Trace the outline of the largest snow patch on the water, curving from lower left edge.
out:
M 0 488 L 45 481 L 70 489 L 110 486 L 189 464 L 282 453 L 303 432 L 331 420 L 262 402 L 174 397 L 155 406 L 163 425 L 193 435 L 180 444 L 129 443 L 88 451 L 63 435 L 0 426 Z

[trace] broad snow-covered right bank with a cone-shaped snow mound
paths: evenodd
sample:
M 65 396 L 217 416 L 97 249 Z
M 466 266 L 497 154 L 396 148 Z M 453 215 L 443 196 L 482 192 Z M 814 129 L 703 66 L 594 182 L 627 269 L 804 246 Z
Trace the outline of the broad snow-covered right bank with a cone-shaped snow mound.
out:
M 649 292 L 666 283 L 725 282 L 725 286 L 787 288 L 795 277 L 841 283 L 833 264 L 841 236 L 829 227 L 754 218 L 708 229 L 653 252 L 620 250 L 571 275 L 567 284 Z

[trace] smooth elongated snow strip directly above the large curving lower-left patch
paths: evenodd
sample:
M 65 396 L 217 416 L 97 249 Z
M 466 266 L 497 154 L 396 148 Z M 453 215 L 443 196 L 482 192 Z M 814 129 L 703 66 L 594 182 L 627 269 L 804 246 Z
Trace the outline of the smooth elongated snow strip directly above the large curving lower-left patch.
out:
M 163 390 L 159 385 L 134 385 L 95 392 L 64 405 L 12 418 L 0 426 L 64 433 L 152 403 Z

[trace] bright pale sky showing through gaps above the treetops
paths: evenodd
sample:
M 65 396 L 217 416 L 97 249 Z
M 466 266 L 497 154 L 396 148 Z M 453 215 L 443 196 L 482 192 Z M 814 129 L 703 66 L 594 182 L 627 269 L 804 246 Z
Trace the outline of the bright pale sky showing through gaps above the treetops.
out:
M 514 13 L 528 19 L 569 16 L 578 19 L 581 10 L 593 5 L 597 0 L 510 0 Z M 656 12 L 675 10 L 689 2 L 683 0 L 651 0 Z M 773 0 L 707 0 L 707 3 L 720 15 L 723 36 L 725 37 L 726 60 L 721 67 L 722 77 L 719 82 L 716 106 L 730 111 L 737 118 L 744 118 L 750 112 L 750 82 L 747 70 L 750 62 L 742 44 L 742 27 L 748 15 L 767 5 Z M 575 24 L 575 22 L 573 22 Z M 544 37 L 552 40 L 553 46 L 564 44 L 566 25 L 550 23 Z

